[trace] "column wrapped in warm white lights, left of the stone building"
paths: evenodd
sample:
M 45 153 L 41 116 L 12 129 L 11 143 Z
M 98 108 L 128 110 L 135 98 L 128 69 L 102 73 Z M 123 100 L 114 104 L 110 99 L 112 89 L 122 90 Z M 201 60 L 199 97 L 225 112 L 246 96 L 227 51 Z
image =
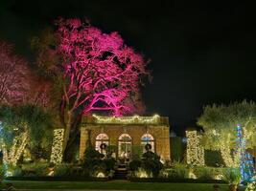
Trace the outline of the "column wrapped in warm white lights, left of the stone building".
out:
M 51 162 L 58 164 L 62 162 L 62 147 L 63 147 L 64 129 L 54 130 L 54 141 L 51 154 Z

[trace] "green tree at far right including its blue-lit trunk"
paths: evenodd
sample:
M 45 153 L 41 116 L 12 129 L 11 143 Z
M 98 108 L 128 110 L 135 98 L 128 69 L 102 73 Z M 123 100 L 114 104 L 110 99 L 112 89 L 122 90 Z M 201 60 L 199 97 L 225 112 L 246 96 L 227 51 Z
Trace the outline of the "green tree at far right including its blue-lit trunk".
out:
M 255 120 L 256 104 L 246 100 L 227 106 L 206 106 L 198 118 L 198 125 L 204 129 L 204 147 L 221 150 L 225 165 L 240 167 L 243 179 L 247 179 L 244 173 L 250 162 L 244 158 L 246 149 L 253 148 L 256 142 Z

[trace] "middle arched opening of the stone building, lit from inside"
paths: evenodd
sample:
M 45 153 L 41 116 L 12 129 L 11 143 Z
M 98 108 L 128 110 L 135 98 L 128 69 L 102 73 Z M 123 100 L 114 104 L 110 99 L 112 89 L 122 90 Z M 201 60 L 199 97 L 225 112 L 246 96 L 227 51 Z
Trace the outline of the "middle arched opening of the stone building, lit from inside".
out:
M 128 134 L 122 134 L 118 138 L 118 157 L 128 161 L 131 154 L 131 138 Z

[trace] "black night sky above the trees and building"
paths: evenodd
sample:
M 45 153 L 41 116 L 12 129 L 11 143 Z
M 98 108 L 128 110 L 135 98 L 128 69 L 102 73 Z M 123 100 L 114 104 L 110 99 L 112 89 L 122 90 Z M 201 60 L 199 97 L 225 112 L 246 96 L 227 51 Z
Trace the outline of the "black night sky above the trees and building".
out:
M 104 32 L 120 32 L 151 58 L 148 114 L 170 117 L 181 133 L 195 126 L 203 105 L 256 100 L 254 7 L 223 2 L 1 0 L 0 39 L 32 59 L 29 39 L 58 16 L 88 17 Z

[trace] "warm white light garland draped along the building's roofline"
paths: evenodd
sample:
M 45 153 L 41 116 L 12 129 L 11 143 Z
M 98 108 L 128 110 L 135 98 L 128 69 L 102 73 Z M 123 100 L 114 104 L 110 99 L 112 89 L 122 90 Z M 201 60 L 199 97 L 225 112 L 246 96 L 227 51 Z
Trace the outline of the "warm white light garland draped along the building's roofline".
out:
M 138 124 L 155 124 L 159 123 L 160 117 L 158 115 L 154 115 L 153 117 L 104 117 L 93 115 L 96 119 L 97 123 L 122 123 L 122 124 L 130 124 L 130 123 L 138 123 Z

